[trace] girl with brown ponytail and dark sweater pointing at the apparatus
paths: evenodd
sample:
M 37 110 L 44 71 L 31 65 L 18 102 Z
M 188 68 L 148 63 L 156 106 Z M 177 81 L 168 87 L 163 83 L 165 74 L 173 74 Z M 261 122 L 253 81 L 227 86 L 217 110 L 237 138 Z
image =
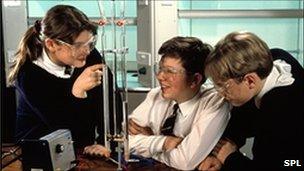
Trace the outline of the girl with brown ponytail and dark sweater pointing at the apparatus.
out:
M 65 128 L 77 148 L 87 146 L 85 153 L 110 155 L 91 145 L 102 119 L 103 58 L 94 49 L 96 34 L 97 26 L 68 5 L 52 7 L 27 30 L 9 76 L 18 92 L 17 140 Z

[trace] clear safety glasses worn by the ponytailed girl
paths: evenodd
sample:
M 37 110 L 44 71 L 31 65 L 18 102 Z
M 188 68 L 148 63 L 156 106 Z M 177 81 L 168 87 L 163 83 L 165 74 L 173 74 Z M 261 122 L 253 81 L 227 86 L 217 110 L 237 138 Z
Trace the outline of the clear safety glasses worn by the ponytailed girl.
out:
M 56 39 L 57 42 L 61 43 L 61 44 L 65 44 L 67 46 L 69 46 L 71 49 L 73 49 L 74 51 L 80 51 L 85 47 L 88 47 L 90 51 L 92 51 L 95 48 L 96 45 L 96 36 L 93 36 L 90 38 L 90 40 L 88 40 L 87 42 L 83 43 L 83 42 L 76 42 L 73 44 L 67 43 L 65 41 L 62 41 L 60 39 Z

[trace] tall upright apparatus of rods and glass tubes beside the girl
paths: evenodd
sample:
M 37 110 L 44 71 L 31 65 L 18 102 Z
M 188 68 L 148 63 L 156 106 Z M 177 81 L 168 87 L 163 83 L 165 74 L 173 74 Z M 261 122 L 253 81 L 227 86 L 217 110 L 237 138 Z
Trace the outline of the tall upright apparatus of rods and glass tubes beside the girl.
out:
M 99 10 L 103 19 L 105 19 L 104 11 L 102 8 L 102 4 L 99 1 Z M 103 68 L 103 91 L 104 91 L 104 136 L 105 136 L 105 147 L 110 147 L 110 141 L 115 141 L 118 143 L 116 151 L 118 153 L 118 168 L 117 170 L 122 170 L 122 152 L 124 149 L 124 159 L 125 161 L 129 160 L 129 139 L 128 139 L 128 99 L 127 99 L 127 70 L 126 70 L 126 53 L 128 53 L 128 48 L 126 47 L 126 28 L 125 28 L 125 1 L 120 1 L 120 22 L 115 23 L 116 20 L 116 6 L 115 0 L 111 1 L 112 6 L 112 17 L 111 17 L 111 27 L 112 27 L 112 38 L 113 38 L 113 47 L 112 49 L 106 49 L 106 36 L 105 36 L 105 28 L 102 25 L 102 34 L 101 34 L 101 46 L 102 46 L 102 54 L 105 57 L 107 53 L 113 54 L 113 123 L 114 123 L 114 135 L 110 132 L 110 110 L 109 110 L 109 84 L 108 84 L 108 67 Z M 120 48 L 117 49 L 116 45 L 116 24 L 121 27 L 121 35 L 120 35 Z M 122 94 L 120 94 L 119 90 L 117 90 L 117 57 L 120 54 L 120 69 L 121 69 L 121 81 L 122 81 Z M 116 95 L 122 95 L 122 114 L 123 114 L 123 122 L 122 122 L 122 132 L 117 131 L 117 106 L 116 106 Z

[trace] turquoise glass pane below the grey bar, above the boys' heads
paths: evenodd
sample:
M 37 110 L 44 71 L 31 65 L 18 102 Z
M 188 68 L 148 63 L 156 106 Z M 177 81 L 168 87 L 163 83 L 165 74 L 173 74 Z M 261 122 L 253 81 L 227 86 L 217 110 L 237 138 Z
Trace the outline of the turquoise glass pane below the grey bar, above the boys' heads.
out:
M 233 31 L 253 32 L 270 48 L 285 49 L 303 64 L 303 19 L 180 19 L 179 22 L 180 35 L 196 36 L 211 45 Z

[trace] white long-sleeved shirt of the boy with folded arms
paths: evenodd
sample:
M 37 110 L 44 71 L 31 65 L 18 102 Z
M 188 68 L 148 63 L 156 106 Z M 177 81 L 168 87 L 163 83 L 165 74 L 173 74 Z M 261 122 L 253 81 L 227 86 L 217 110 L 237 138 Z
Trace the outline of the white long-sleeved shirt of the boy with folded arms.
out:
M 130 119 L 142 127 L 150 127 L 152 136 L 130 135 L 130 151 L 153 157 L 171 167 L 192 170 L 212 151 L 230 118 L 231 105 L 213 88 L 201 87 L 192 99 L 179 104 L 173 133 L 184 138 L 177 148 L 163 151 L 166 136 L 160 128 L 173 113 L 175 102 L 166 100 L 161 89 L 152 89 L 146 99 L 133 111 Z

